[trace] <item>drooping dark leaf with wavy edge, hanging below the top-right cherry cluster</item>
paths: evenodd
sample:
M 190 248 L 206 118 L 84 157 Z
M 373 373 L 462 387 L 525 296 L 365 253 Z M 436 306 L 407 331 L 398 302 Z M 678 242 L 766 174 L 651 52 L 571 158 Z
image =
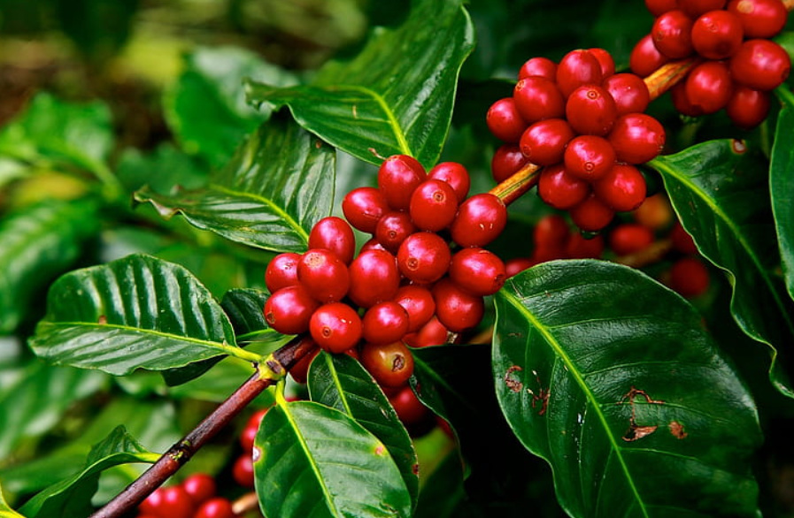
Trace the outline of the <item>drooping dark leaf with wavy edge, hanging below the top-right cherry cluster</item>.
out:
M 743 142 L 728 140 L 708 141 L 649 164 L 661 173 L 670 201 L 700 253 L 728 272 L 736 323 L 771 348 L 771 380 L 794 397 L 794 370 L 785 353 L 794 339 L 794 305 L 775 275 L 780 253 L 767 171 L 754 163 Z

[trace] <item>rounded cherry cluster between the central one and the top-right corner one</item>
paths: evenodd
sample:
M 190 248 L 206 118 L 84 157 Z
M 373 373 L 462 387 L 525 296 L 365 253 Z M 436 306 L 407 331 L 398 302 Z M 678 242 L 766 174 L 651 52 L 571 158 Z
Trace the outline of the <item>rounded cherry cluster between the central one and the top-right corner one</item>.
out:
M 501 182 L 526 164 L 543 166 L 538 194 L 574 223 L 596 232 L 616 211 L 636 209 L 645 180 L 636 168 L 659 155 L 665 131 L 644 113 L 647 86 L 615 73 L 603 49 L 573 50 L 558 63 L 533 57 L 521 66 L 513 96 L 493 103 L 486 122 L 505 144 L 491 161 Z

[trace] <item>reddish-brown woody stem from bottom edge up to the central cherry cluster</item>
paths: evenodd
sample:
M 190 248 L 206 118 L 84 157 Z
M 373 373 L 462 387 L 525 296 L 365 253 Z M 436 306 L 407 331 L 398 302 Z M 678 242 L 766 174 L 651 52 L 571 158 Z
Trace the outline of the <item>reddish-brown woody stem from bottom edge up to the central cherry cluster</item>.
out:
M 247 407 L 267 387 L 286 376 L 306 354 L 317 347 L 311 339 L 303 335 L 291 339 L 286 345 L 267 356 L 258 365 L 257 372 L 223 401 L 218 408 L 207 415 L 179 442 L 163 453 L 143 475 L 129 484 L 104 507 L 91 514 L 90 518 L 118 518 L 132 511 L 143 499 L 176 473 L 193 454 L 202 448 L 215 434 L 227 425 L 243 408 Z

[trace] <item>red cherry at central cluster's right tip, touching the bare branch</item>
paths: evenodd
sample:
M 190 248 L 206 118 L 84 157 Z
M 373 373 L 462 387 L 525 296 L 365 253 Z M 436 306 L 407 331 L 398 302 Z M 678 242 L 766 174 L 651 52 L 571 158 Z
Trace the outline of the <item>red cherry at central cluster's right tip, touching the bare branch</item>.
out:
M 507 225 L 507 208 L 496 195 L 474 194 L 460 204 L 450 226 L 452 240 L 461 247 L 484 247 Z

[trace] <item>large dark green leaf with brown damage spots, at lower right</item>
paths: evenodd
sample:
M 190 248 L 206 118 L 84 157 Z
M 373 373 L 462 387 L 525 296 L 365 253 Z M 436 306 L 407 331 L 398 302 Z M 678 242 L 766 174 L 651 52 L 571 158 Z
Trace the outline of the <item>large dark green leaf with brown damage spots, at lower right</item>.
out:
M 502 411 L 571 516 L 757 516 L 750 393 L 687 301 L 600 261 L 543 263 L 496 295 Z

